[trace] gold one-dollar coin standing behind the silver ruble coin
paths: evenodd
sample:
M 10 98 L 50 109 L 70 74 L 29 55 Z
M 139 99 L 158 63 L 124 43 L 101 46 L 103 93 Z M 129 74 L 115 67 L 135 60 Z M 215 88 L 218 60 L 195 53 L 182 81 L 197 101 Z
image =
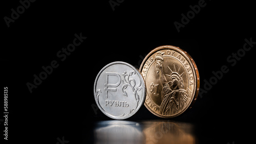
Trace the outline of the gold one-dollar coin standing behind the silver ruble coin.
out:
M 175 117 L 195 103 L 199 73 L 194 60 L 179 47 L 159 46 L 140 65 L 146 84 L 144 105 L 153 114 Z

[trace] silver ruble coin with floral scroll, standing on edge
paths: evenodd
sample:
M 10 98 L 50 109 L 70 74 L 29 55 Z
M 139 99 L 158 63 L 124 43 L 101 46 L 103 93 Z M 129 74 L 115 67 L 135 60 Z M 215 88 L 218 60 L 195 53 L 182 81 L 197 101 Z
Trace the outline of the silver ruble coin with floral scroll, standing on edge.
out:
M 94 98 L 105 115 L 125 119 L 144 104 L 145 83 L 140 72 L 131 64 L 112 62 L 97 75 Z

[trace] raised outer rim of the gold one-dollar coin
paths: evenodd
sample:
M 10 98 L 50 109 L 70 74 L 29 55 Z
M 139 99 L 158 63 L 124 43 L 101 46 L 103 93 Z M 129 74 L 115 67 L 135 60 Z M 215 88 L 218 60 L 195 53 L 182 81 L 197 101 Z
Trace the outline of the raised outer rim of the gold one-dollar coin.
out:
M 193 60 L 193 58 L 184 50 L 182 50 L 180 47 L 177 47 L 177 46 L 173 46 L 173 45 L 162 45 L 162 46 L 158 46 L 156 47 L 155 49 L 153 49 L 150 53 L 148 53 L 146 55 L 146 57 L 144 58 L 144 60 L 142 61 L 141 65 L 140 65 L 140 69 L 139 71 L 141 72 L 145 62 L 147 61 L 148 58 L 150 58 L 151 55 L 153 55 L 154 53 L 156 53 L 157 51 L 160 51 L 160 50 L 175 50 L 175 51 L 178 51 L 179 53 L 181 53 L 182 55 L 185 55 L 189 61 L 191 62 L 191 64 L 193 65 L 193 67 L 191 66 L 191 68 L 194 68 L 195 70 L 195 73 L 196 73 L 196 91 L 195 91 L 195 94 L 193 95 L 193 100 L 190 102 L 189 106 L 187 106 L 184 110 L 182 110 L 181 112 L 177 113 L 177 114 L 174 114 L 174 115 L 170 115 L 170 116 L 165 116 L 165 115 L 161 115 L 161 114 L 158 114 L 156 113 L 155 111 L 153 111 L 152 109 L 150 109 L 148 107 L 148 105 L 144 102 L 144 106 L 151 112 L 153 113 L 154 115 L 156 116 L 159 116 L 159 117 L 163 117 L 163 118 L 173 118 L 173 117 L 176 117 L 176 116 L 179 116 L 180 114 L 183 114 L 184 112 L 186 112 L 188 109 L 190 109 L 196 102 L 197 100 L 197 97 L 198 97 L 198 93 L 199 93 L 199 87 L 200 87 L 200 78 L 199 78 L 199 72 L 198 72 L 198 68 L 197 68 L 197 65 L 195 63 L 195 61 Z M 144 77 L 143 77 L 144 78 Z M 145 84 L 146 85 L 146 84 Z M 147 95 L 147 91 L 145 92 L 146 93 L 146 96 L 145 97 L 148 97 Z M 145 98 L 146 99 L 146 98 Z

